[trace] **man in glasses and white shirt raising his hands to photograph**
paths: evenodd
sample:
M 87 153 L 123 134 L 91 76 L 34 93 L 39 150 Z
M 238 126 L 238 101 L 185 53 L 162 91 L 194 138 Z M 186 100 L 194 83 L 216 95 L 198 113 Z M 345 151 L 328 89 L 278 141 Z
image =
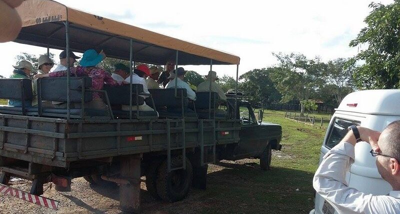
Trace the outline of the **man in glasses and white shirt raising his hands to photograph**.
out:
M 346 172 L 354 162 L 354 145 L 368 142 L 376 156 L 379 174 L 393 188 L 388 195 L 372 195 L 347 186 Z M 328 151 L 313 178 L 316 192 L 338 213 L 400 213 L 400 120 L 391 122 L 382 133 L 350 126 L 348 133 Z M 371 183 L 373 185 L 373 183 Z

